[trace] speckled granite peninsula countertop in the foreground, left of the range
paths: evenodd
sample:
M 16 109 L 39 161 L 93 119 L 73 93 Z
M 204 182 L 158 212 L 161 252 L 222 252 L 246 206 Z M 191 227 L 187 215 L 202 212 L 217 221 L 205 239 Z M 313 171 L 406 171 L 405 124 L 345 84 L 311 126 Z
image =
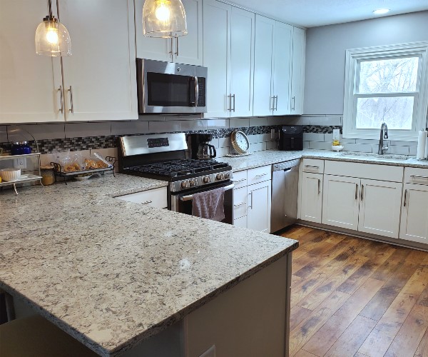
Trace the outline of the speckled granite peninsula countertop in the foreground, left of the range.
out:
M 1 191 L 0 288 L 114 356 L 298 246 L 112 197 L 165 184 L 118 174 Z

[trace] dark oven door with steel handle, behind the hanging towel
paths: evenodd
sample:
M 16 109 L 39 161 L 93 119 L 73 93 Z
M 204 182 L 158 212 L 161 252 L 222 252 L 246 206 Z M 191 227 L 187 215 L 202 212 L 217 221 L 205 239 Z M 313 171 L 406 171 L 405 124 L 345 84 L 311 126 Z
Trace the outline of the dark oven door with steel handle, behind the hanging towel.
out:
M 200 193 L 205 191 L 210 191 L 215 188 L 224 187 L 225 188 L 225 200 L 224 200 L 224 209 L 225 209 L 225 219 L 223 223 L 233 224 L 233 187 L 235 185 L 232 181 L 226 181 L 223 183 L 218 183 L 215 185 L 210 185 L 209 187 L 204 186 L 201 188 L 194 188 L 191 190 L 186 190 L 178 193 L 170 194 L 170 207 L 171 211 L 180 212 L 192 215 L 193 207 L 193 193 Z

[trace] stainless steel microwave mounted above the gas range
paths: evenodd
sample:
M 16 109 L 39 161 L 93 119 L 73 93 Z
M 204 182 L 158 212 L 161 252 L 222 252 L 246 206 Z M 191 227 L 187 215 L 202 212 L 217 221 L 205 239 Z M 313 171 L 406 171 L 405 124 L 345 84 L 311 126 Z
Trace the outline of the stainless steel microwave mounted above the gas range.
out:
M 138 113 L 206 113 L 207 74 L 202 66 L 137 59 Z

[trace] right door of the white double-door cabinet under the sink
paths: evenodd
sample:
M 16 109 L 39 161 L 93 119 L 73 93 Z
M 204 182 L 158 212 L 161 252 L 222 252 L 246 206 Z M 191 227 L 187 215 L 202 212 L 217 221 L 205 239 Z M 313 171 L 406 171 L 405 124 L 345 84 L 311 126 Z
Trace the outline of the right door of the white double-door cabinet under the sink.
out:
M 398 238 L 402 183 L 361 180 L 358 230 Z

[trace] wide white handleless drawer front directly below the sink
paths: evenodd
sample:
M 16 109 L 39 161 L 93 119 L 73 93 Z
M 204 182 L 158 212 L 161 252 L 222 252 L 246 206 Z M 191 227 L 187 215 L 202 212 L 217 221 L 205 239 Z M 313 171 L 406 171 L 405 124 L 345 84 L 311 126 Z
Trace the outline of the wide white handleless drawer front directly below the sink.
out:
M 403 167 L 325 160 L 324 174 L 402 182 Z

